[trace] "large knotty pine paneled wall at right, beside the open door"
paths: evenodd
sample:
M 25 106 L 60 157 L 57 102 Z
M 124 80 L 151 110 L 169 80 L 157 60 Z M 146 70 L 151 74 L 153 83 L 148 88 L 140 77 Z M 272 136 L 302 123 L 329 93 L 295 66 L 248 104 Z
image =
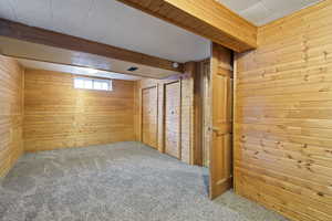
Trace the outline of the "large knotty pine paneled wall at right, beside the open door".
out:
M 259 29 L 237 56 L 236 192 L 297 221 L 332 220 L 332 1 Z

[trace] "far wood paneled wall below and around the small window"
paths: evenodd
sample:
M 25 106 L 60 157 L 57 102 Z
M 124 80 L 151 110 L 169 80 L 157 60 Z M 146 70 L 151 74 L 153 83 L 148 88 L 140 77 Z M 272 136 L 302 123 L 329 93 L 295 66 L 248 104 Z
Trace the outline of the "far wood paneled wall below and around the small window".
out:
M 74 75 L 25 71 L 24 149 L 82 147 L 135 140 L 135 83 L 113 80 L 113 91 L 73 88 Z

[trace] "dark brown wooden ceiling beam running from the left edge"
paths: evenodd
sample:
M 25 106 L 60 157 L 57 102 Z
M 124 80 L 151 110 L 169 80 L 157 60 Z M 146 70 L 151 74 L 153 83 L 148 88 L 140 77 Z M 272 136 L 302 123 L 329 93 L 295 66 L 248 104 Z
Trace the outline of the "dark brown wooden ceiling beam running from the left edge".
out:
M 59 32 L 29 27 L 6 19 L 0 19 L 0 36 L 143 64 L 162 70 L 183 72 L 183 64 L 179 64 L 178 67 L 174 67 L 173 61 L 62 34 Z

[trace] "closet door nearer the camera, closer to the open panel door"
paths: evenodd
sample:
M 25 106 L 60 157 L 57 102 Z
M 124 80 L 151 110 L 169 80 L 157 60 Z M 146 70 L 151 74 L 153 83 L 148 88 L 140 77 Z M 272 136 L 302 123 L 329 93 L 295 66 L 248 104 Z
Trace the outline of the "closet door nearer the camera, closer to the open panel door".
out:
M 165 152 L 180 159 L 180 81 L 164 85 L 164 148 Z

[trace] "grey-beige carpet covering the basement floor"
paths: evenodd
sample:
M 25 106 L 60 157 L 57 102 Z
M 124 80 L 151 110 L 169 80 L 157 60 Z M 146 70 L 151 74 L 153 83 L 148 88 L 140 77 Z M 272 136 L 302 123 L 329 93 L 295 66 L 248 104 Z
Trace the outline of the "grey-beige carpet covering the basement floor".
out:
M 27 154 L 0 181 L 0 220 L 286 220 L 232 191 L 210 201 L 207 180 L 139 143 Z

